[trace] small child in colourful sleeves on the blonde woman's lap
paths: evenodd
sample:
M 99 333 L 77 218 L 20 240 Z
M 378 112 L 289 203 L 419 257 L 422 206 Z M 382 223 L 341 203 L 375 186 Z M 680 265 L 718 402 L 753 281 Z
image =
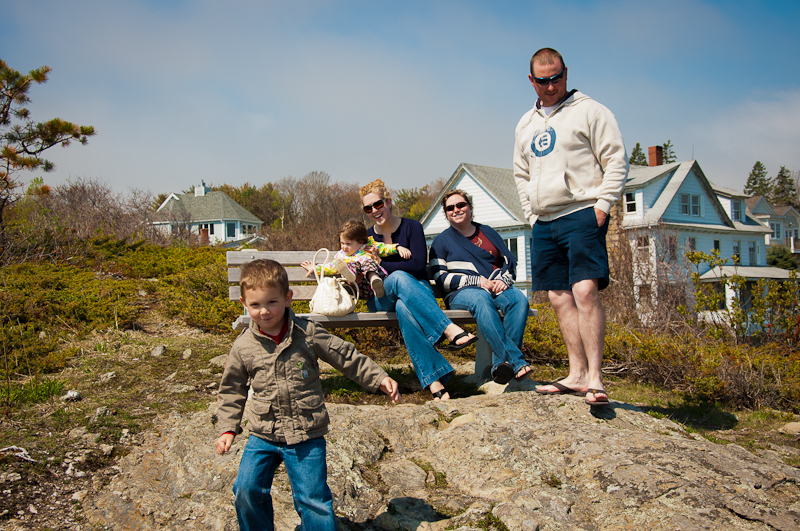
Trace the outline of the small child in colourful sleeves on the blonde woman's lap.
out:
M 341 250 L 336 253 L 333 262 L 318 265 L 317 273 L 320 271 L 328 275 L 339 273 L 348 282 L 358 286 L 359 296 L 364 300 L 373 297 L 380 299 L 384 296 L 383 279 L 387 273 L 372 253 L 380 257 L 399 254 L 405 259 L 411 258 L 411 251 L 401 245 L 387 245 L 373 240 L 367 235 L 367 227 L 355 220 L 345 223 L 339 231 L 339 245 Z M 300 265 L 308 271 L 306 276 L 314 274 L 314 265 L 311 262 L 306 261 Z

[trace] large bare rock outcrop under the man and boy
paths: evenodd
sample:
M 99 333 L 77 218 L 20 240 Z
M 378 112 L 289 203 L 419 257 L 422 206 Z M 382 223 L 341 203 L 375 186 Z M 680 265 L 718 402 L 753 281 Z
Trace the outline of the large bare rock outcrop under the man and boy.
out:
M 425 405 L 329 405 L 329 485 L 341 529 L 797 530 L 800 470 L 612 403 L 530 392 Z M 217 456 L 213 405 L 173 416 L 84 501 L 114 530 L 235 530 L 246 443 Z M 276 529 L 294 529 L 283 467 Z M 488 527 L 491 529 L 491 527 Z

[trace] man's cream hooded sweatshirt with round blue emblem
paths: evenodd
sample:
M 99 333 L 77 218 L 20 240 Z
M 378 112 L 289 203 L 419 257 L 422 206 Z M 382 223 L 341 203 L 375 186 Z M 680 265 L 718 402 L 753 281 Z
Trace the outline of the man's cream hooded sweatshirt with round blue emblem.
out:
M 577 90 L 549 116 L 537 101 L 517 124 L 514 179 L 531 225 L 589 207 L 608 214 L 627 175 L 617 119 Z

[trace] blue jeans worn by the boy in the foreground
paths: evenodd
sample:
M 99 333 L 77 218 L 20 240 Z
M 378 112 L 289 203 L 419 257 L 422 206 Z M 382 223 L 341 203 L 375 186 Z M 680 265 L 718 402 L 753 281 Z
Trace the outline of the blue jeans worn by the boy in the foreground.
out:
M 328 488 L 325 438 L 299 444 L 272 443 L 250 435 L 233 484 L 236 518 L 241 531 L 273 531 L 272 478 L 286 465 L 294 508 L 304 531 L 336 531 L 333 496 Z

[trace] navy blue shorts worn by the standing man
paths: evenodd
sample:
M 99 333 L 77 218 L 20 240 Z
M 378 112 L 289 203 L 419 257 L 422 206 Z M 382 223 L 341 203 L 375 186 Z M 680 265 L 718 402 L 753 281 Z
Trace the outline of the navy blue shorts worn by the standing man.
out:
M 531 289 L 571 290 L 581 280 L 598 279 L 608 286 L 608 220 L 597 226 L 594 208 L 584 208 L 553 221 L 533 224 Z

